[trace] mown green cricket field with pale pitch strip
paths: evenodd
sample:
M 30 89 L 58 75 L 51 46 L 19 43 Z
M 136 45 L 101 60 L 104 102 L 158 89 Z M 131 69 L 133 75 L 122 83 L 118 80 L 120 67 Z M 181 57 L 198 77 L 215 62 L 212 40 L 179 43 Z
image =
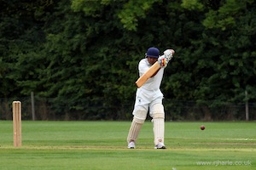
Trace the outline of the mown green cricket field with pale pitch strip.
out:
M 12 122 L 0 121 L 1 169 L 256 169 L 256 122 L 166 122 L 166 150 L 154 150 L 151 122 L 126 149 L 130 124 L 23 121 L 14 148 Z

